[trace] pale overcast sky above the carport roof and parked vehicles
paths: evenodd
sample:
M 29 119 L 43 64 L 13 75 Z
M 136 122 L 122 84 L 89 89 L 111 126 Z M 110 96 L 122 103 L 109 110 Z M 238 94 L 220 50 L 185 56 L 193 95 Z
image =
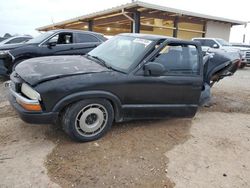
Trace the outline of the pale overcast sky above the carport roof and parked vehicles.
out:
M 173 7 L 192 12 L 224 17 L 240 21 L 250 21 L 248 0 L 142 0 L 144 2 Z M 52 24 L 77 16 L 104 10 L 131 0 L 0 0 L 0 36 L 5 33 L 30 34 L 40 26 Z M 230 41 L 250 43 L 250 24 L 233 27 Z

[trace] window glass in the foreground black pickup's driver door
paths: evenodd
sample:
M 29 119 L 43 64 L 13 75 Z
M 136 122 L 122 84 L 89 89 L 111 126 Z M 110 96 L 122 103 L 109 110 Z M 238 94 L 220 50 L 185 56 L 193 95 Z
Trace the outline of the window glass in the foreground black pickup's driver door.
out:
M 199 74 L 198 50 L 193 45 L 167 45 L 154 61 L 164 65 L 165 75 Z

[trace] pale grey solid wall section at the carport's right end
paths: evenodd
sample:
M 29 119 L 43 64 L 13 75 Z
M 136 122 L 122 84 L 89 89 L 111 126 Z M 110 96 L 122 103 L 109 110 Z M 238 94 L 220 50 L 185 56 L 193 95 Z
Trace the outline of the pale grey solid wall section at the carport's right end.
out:
M 229 41 L 231 24 L 208 21 L 206 30 L 206 37 L 222 38 L 226 41 Z

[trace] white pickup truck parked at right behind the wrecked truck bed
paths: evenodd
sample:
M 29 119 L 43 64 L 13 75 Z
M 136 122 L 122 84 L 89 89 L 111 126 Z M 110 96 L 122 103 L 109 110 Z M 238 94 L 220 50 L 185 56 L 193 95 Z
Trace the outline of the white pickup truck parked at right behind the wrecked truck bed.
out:
M 199 41 L 203 50 L 208 48 L 221 49 L 228 53 L 235 54 L 240 53 L 241 55 L 241 65 L 240 68 L 244 68 L 250 63 L 250 48 L 246 47 L 236 47 L 229 42 L 220 38 L 193 38 L 193 41 Z

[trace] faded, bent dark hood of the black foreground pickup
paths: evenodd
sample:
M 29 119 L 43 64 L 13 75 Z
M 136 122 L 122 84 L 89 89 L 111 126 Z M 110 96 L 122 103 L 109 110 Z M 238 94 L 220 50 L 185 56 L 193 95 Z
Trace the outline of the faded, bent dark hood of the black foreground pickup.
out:
M 111 71 L 84 56 L 48 56 L 23 61 L 15 72 L 26 82 L 40 82 L 77 74 Z

